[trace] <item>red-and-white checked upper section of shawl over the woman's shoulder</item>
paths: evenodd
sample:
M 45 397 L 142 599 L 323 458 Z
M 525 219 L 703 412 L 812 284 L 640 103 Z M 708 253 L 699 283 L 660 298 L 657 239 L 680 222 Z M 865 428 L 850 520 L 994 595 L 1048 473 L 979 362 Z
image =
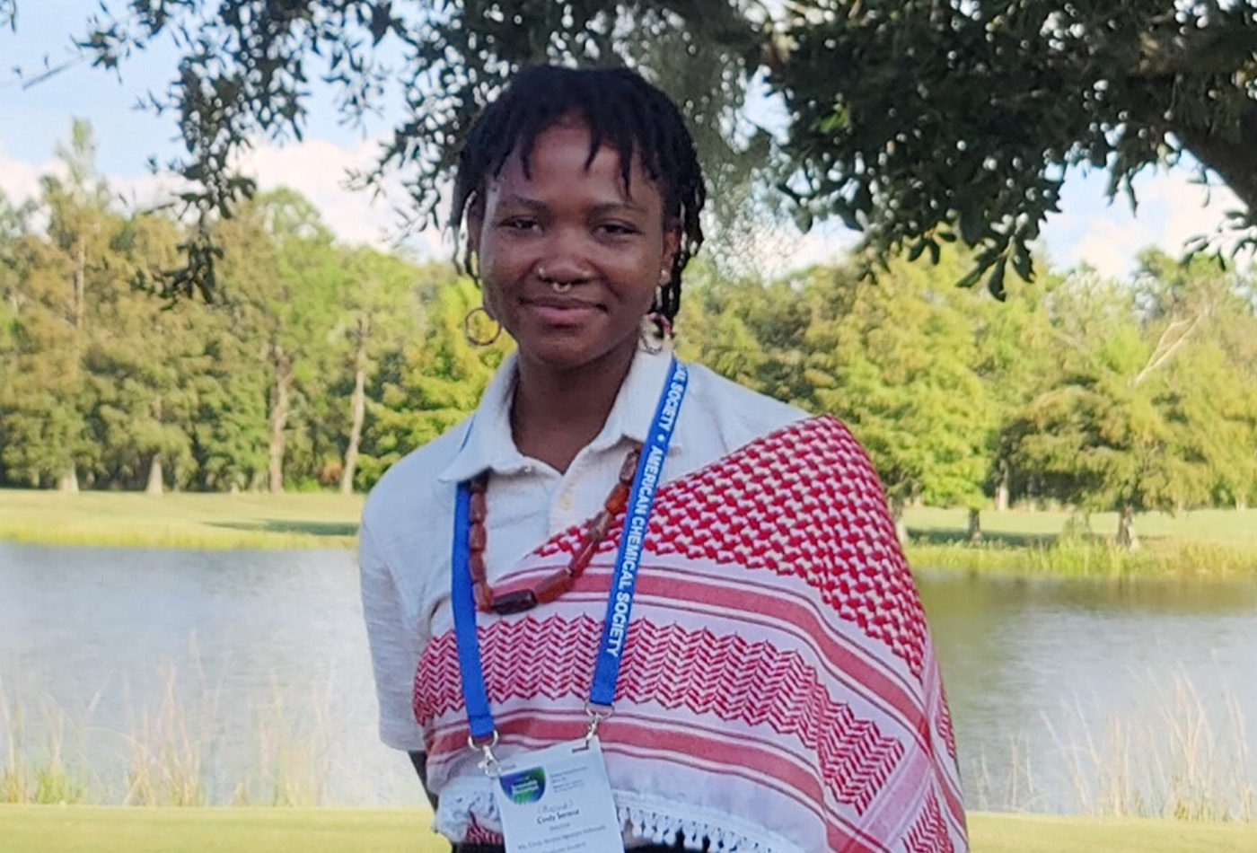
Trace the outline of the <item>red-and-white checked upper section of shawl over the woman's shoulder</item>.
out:
M 612 531 L 600 553 L 620 546 L 618 521 Z M 535 554 L 572 554 L 581 538 L 572 528 Z M 661 557 L 799 577 L 921 675 L 925 614 L 881 484 L 860 443 L 831 417 L 778 430 L 665 484 L 646 539 Z

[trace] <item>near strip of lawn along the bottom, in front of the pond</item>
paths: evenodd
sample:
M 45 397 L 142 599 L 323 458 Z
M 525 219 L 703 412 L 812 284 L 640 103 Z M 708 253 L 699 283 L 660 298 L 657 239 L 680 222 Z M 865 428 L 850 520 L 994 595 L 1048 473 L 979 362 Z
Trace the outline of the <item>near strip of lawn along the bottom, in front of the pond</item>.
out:
M 974 853 L 1252 853 L 1257 824 L 973 814 Z M 5 853 L 445 853 L 421 812 L 0 805 Z

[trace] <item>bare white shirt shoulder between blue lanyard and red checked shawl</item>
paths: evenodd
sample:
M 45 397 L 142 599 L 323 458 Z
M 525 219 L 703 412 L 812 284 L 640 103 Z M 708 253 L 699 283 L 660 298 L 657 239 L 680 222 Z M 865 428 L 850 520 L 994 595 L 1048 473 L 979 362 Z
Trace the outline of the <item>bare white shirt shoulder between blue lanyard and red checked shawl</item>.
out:
M 729 450 L 754 441 L 808 417 L 803 410 L 745 388 L 701 364 L 688 363 L 690 372 L 683 417 L 690 413 L 714 427 Z

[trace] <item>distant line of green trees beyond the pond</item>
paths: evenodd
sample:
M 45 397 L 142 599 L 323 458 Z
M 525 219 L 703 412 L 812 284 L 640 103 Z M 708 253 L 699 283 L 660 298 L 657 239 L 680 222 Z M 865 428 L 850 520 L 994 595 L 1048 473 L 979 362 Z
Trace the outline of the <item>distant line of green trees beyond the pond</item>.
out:
M 449 263 L 337 244 L 290 191 L 217 227 L 221 298 L 167 303 L 181 226 L 122 214 L 75 126 L 64 177 L 0 197 L 0 484 L 368 489 L 461 420 L 508 352 L 476 349 Z M 732 280 L 696 263 L 681 356 L 860 437 L 896 509 L 1121 510 L 1257 499 L 1251 270 L 1155 253 L 1133 283 L 1040 270 L 1006 303 L 963 256 Z M 1126 526 L 1126 525 L 1124 525 Z

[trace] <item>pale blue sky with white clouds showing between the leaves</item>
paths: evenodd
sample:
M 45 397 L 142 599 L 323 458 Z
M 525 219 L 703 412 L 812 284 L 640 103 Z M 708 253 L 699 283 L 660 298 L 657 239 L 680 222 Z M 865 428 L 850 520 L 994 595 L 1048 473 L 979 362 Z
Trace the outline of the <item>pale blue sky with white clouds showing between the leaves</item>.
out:
M 99 170 L 113 191 L 126 204 L 152 204 L 171 181 L 152 175 L 148 158 L 161 162 L 178 153 L 177 127 L 173 116 L 153 116 L 134 104 L 148 88 L 170 79 L 172 53 L 155 49 L 132 57 L 121 79 L 79 64 L 23 88 L 10 69 L 38 70 L 45 57 L 54 65 L 68 59 L 70 33 L 85 29 L 97 3 L 19 0 L 18 5 L 16 34 L 0 31 L 0 191 L 10 201 L 35 195 L 39 176 L 57 171 L 57 147 L 68 139 L 70 122 L 85 118 L 96 131 Z M 390 178 L 383 197 L 376 200 L 344 183 L 347 170 L 373 162 L 377 139 L 400 116 L 400 106 L 385 104 L 368 127 L 348 128 L 337 123 L 329 94 L 316 90 L 304 139 L 258 141 L 243 166 L 261 188 L 288 186 L 308 197 L 341 240 L 387 245 L 400 222 L 396 209 L 406 204 L 400 178 Z M 1141 249 L 1155 245 L 1178 254 L 1188 239 L 1212 234 L 1226 211 L 1239 206 L 1226 187 L 1200 186 L 1185 168 L 1136 178 L 1138 211 L 1124 197 L 1106 200 L 1106 181 L 1100 171 L 1075 170 L 1066 177 L 1062 212 L 1043 230 L 1043 250 L 1053 265 L 1086 263 L 1101 274 L 1126 278 Z M 789 254 L 799 265 L 836 259 L 854 239 L 828 222 L 793 241 Z M 419 255 L 451 253 L 436 231 L 412 235 L 407 244 Z

